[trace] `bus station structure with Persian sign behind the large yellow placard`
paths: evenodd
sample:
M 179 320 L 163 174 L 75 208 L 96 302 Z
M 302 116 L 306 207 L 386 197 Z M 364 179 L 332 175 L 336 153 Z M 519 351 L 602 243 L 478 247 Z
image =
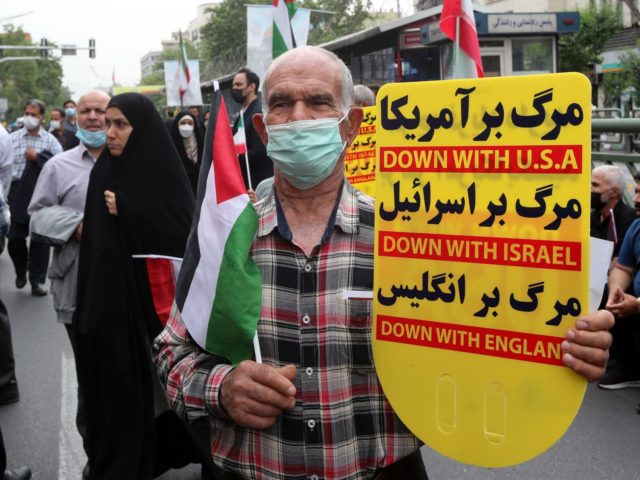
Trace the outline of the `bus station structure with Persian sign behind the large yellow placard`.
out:
M 577 31 L 577 12 L 475 12 L 485 76 L 554 73 L 557 38 Z M 356 83 L 451 77 L 453 44 L 439 28 L 442 6 L 323 45 L 349 66 Z

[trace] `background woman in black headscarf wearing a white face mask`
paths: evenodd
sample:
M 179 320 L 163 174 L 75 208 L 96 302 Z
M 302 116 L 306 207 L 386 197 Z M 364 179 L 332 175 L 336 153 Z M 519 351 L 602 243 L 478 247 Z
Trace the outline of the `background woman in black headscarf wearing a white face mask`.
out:
M 188 112 L 180 112 L 171 125 L 170 134 L 195 195 L 202 160 L 201 131 L 196 128 L 195 120 Z

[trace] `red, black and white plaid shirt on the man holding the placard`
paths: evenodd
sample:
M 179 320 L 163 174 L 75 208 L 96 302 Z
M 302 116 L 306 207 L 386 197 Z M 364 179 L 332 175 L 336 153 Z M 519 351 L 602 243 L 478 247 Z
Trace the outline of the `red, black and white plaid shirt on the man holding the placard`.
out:
M 292 243 L 274 195 L 256 209 L 260 347 L 264 363 L 297 366 L 296 406 L 264 430 L 232 423 L 218 398 L 231 367 L 194 344 L 175 308 L 154 346 L 169 403 L 190 421 L 209 416 L 213 459 L 240 478 L 371 478 L 420 446 L 376 376 L 371 301 L 342 297 L 345 289 L 373 288 L 373 200 L 345 182 L 310 257 Z

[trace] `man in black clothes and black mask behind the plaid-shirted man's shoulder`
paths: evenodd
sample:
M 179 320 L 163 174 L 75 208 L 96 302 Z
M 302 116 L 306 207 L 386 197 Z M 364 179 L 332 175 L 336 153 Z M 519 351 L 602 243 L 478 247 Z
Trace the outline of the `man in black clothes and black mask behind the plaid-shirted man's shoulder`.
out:
M 231 96 L 235 102 L 242 105 L 240 115 L 242 115 L 247 147 L 246 155 L 238 155 L 238 160 L 240 161 L 242 178 L 248 190 L 255 189 L 262 180 L 273 176 L 273 163 L 267 156 L 267 149 L 260 136 L 256 133 L 251 121 L 251 118 L 256 113 L 262 113 L 262 107 L 258 100 L 259 87 L 260 78 L 248 68 L 241 68 L 233 77 Z M 233 125 L 234 136 L 238 131 L 239 124 L 240 116 L 238 116 Z M 247 175 L 247 163 L 249 175 Z M 249 176 L 251 181 L 249 181 Z

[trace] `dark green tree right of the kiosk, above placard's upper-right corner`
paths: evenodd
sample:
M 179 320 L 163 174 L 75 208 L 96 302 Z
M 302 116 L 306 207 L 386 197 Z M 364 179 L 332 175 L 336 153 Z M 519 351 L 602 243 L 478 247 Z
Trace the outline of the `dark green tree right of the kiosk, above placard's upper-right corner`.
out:
M 591 65 L 600 63 L 605 44 L 622 26 L 620 18 L 618 7 L 608 2 L 599 7 L 592 2 L 580 10 L 580 30 L 560 37 L 559 70 L 586 73 Z

